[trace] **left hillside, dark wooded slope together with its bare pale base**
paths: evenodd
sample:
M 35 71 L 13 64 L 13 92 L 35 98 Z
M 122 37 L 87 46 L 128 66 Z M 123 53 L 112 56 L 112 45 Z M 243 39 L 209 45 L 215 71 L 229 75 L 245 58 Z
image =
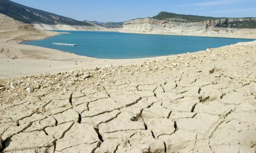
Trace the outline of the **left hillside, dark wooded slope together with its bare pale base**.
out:
M 0 13 L 23 23 L 31 24 L 38 29 L 107 31 L 107 28 L 90 21 L 77 21 L 65 16 L 20 5 L 10 0 L 0 0 Z

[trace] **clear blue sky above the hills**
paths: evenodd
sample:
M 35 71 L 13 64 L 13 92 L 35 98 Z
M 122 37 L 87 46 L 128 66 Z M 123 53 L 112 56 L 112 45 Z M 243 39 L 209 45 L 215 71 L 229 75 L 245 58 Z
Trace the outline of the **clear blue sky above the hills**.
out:
M 256 17 L 256 0 L 11 0 L 79 21 L 118 22 L 160 11 L 213 17 Z

